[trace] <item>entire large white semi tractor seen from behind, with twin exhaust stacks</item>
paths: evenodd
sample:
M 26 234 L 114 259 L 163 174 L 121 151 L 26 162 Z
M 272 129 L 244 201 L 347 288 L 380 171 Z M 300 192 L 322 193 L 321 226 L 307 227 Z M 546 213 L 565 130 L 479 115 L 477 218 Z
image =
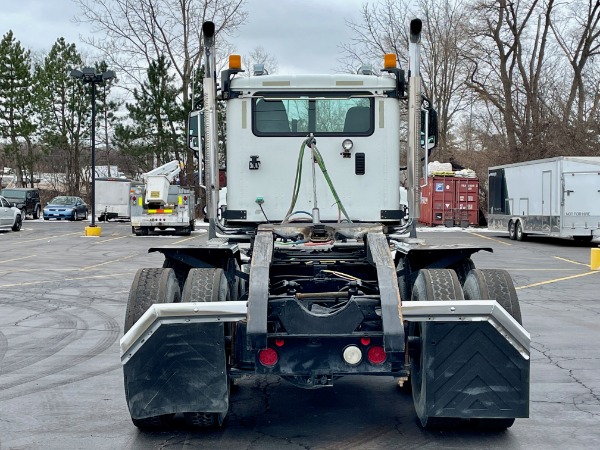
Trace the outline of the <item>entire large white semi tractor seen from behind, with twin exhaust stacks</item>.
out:
M 250 78 L 235 76 L 230 57 L 220 79 L 227 209 L 217 220 L 215 27 L 204 23 L 204 126 L 194 112 L 190 129 L 196 142 L 204 128 L 209 239 L 151 248 L 163 267 L 135 275 L 120 346 L 136 426 L 175 415 L 220 426 L 230 383 L 267 374 L 300 388 L 389 376 L 410 386 L 425 428 L 497 430 L 528 417 L 530 335 L 511 277 L 474 267 L 471 256 L 490 248 L 410 237 L 436 125 L 420 93 L 421 21 L 410 27 L 408 78 L 395 55 L 381 76 Z

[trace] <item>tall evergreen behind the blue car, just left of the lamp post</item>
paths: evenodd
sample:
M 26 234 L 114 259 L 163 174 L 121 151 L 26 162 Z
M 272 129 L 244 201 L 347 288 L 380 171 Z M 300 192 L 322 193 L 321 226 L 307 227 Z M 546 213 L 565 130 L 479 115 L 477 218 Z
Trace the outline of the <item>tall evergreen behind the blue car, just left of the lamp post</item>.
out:
M 50 154 L 55 172 L 65 172 L 69 194 L 81 189 L 81 153 L 90 120 L 90 85 L 71 78 L 72 69 L 80 69 L 83 58 L 75 44 L 57 39 L 35 66 L 35 105 L 40 114 L 41 143 Z

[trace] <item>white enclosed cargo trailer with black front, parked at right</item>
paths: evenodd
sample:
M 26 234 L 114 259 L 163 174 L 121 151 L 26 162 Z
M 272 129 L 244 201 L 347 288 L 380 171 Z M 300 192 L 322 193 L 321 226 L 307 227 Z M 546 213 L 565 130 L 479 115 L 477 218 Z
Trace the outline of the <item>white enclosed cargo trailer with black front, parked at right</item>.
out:
M 559 156 L 488 169 L 488 227 L 591 242 L 600 237 L 600 157 Z

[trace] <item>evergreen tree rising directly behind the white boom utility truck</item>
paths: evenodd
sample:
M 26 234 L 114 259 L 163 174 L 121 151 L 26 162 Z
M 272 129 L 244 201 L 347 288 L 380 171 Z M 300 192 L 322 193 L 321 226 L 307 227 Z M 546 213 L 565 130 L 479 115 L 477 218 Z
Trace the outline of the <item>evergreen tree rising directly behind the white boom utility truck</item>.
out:
M 144 171 L 159 166 L 173 157 L 181 160 L 185 111 L 176 101 L 181 89 L 175 76 L 169 74 L 171 64 L 160 56 L 150 63 L 147 81 L 133 91 L 134 103 L 126 105 L 132 124 L 118 125 L 116 138 L 123 149 L 136 156 Z

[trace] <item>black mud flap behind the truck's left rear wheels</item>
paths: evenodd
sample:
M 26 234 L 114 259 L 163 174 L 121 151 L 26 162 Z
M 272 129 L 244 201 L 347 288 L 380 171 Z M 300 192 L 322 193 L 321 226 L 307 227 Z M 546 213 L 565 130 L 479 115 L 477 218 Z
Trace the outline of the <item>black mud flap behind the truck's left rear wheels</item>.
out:
M 123 365 L 133 419 L 229 407 L 223 323 L 162 324 Z

